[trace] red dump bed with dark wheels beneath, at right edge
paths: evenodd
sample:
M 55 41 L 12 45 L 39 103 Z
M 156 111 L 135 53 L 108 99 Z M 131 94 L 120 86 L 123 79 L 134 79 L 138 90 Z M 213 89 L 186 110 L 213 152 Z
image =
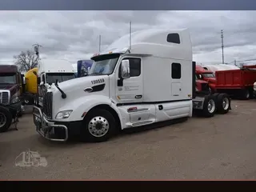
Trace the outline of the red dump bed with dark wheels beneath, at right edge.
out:
M 254 82 L 256 82 L 256 70 L 244 66 L 240 70 L 219 70 L 215 72 L 218 93 L 226 93 L 240 99 L 254 97 Z

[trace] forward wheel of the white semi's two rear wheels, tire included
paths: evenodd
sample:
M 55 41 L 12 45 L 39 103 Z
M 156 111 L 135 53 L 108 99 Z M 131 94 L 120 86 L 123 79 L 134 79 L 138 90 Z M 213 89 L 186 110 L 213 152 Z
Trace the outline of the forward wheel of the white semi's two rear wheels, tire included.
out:
M 208 107 L 209 105 L 212 106 Z M 213 95 L 206 95 L 205 101 L 203 102 L 203 108 L 202 108 L 202 116 L 205 118 L 211 118 L 214 117 L 214 114 L 216 112 L 216 102 Z

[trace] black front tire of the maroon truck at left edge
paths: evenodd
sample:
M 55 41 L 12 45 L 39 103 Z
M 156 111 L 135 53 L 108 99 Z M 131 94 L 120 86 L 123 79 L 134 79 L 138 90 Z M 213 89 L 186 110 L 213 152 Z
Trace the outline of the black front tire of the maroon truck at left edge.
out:
M 12 116 L 6 107 L 0 106 L 0 133 L 6 132 L 10 128 Z

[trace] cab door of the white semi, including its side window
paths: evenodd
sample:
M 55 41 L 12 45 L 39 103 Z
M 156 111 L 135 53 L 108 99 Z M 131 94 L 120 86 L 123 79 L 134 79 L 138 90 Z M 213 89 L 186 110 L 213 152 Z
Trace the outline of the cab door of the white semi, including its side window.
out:
M 143 100 L 143 74 L 142 58 L 127 57 L 122 60 L 130 62 L 130 78 L 121 79 L 121 63 L 118 71 L 118 85 L 116 86 L 116 97 L 120 103 L 136 103 Z M 121 82 L 121 83 L 120 83 Z

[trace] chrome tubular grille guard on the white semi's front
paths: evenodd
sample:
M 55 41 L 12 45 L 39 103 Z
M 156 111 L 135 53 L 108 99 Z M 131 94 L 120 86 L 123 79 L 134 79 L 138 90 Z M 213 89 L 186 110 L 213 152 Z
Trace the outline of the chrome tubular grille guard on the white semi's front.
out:
M 33 120 L 36 130 L 43 138 L 55 142 L 66 142 L 68 139 L 67 127 L 64 125 L 54 125 L 54 122 L 49 122 L 42 114 L 42 110 L 37 106 L 33 107 Z M 54 135 L 54 130 L 58 128 L 62 128 L 65 131 L 65 138 L 50 138 L 50 135 Z

